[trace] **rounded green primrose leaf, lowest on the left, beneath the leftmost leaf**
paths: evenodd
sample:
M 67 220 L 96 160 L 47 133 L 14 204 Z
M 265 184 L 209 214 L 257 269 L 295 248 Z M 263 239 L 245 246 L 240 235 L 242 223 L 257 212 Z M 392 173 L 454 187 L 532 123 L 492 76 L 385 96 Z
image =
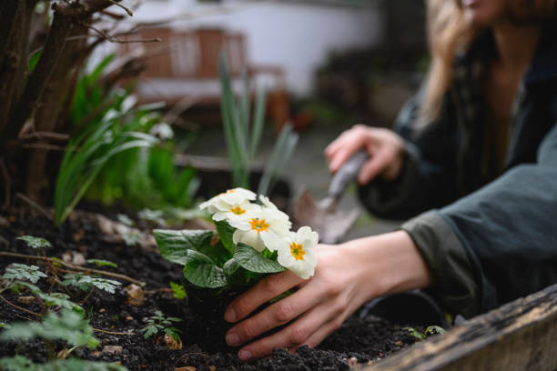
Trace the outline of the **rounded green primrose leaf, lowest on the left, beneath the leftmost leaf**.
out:
M 187 250 L 184 278 L 198 287 L 224 287 L 228 285 L 227 276 L 208 256 L 196 250 Z

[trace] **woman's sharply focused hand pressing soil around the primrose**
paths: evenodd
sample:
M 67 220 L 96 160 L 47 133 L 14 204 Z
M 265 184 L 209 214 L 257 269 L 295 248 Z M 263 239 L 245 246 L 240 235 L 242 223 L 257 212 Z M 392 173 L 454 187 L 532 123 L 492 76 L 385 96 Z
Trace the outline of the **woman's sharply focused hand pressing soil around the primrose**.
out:
M 320 245 L 316 252 L 318 265 L 313 277 L 303 280 L 289 271 L 268 276 L 228 306 L 225 319 L 242 321 L 228 330 L 229 346 L 248 343 L 292 321 L 278 332 L 243 346 L 238 352 L 240 359 L 266 356 L 274 347 L 317 346 L 371 298 L 430 285 L 430 272 L 403 231 L 339 246 Z M 258 306 L 293 287 L 298 287 L 294 294 L 248 317 Z

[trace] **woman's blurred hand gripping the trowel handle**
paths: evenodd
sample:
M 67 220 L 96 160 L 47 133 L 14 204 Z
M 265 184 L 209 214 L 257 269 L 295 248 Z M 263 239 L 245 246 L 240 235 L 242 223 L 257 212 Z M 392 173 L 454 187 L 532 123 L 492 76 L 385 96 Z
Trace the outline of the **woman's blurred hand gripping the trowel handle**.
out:
M 325 148 L 329 171 L 337 172 L 360 148 L 364 148 L 370 155 L 368 162 L 360 169 L 360 185 L 367 184 L 377 175 L 387 180 L 393 180 L 399 175 L 404 158 L 404 141 L 389 129 L 366 125 L 352 126 Z

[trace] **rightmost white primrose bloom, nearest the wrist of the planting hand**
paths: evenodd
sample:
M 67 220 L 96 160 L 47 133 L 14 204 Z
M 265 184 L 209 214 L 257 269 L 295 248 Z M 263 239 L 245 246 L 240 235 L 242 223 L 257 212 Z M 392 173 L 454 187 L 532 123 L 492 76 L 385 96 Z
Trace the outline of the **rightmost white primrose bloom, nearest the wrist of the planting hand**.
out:
M 318 241 L 318 233 L 309 226 L 302 226 L 298 232 L 290 232 L 279 245 L 279 264 L 304 279 L 313 276 L 317 265 L 313 248 Z

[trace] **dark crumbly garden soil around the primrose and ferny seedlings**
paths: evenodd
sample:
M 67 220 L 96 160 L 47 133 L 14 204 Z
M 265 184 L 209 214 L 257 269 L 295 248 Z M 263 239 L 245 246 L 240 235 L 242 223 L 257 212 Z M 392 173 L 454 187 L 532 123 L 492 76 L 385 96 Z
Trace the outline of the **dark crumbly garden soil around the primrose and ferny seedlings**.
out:
M 356 363 L 374 362 L 414 342 L 408 331 L 401 328 L 409 324 L 395 324 L 358 313 L 317 349 L 302 346 L 295 354 L 276 349 L 268 358 L 245 364 L 236 356 L 237 349 L 224 344 L 226 328 L 216 328 L 210 321 L 202 320 L 190 310 L 187 299 L 173 297 L 168 288 L 169 283 L 181 282 L 182 269 L 167 262 L 156 251 L 110 241 L 88 217 L 74 218 L 56 228 L 42 216 L 16 216 L 15 213 L 0 215 L 0 251 L 35 256 L 35 251 L 16 239 L 23 235 L 40 236 L 50 241 L 53 247 L 46 250 L 47 256 L 60 258 L 65 252 L 79 252 L 86 259 L 105 259 L 118 266 L 101 269 L 130 276 L 146 284 L 143 287 L 145 302 L 141 306 L 127 303 L 123 287 L 129 283 L 124 280 L 120 280 L 122 286 L 116 289 L 115 295 L 95 290 L 86 298 L 83 304 L 86 313 L 93 308 L 91 326 L 103 331 L 96 332 L 96 337 L 101 341 L 97 349 L 78 348 L 74 351 L 75 356 L 84 359 L 120 362 L 130 370 L 174 370 L 183 366 L 194 366 L 197 370 L 344 370 Z M 33 259 L 0 256 L 0 276 L 4 274 L 5 266 L 15 262 L 34 264 L 46 270 L 44 263 Z M 42 279 L 38 286 L 47 290 L 48 282 Z M 74 301 L 86 296 L 83 292 L 75 291 L 74 294 Z M 9 291 L 2 293 L 2 296 L 17 306 L 34 312 L 41 311 L 36 301 L 28 305 L 21 304 L 17 301 L 17 295 Z M 182 349 L 169 349 L 160 335 L 144 339 L 140 329 L 146 326 L 147 318 L 153 316 L 156 310 L 166 316 L 182 319 L 176 324 L 181 331 Z M 26 319 L 35 318 L 0 301 L 0 322 Z M 215 323 L 222 322 L 217 320 Z M 122 346 L 122 352 L 109 354 L 102 351 L 104 346 Z M 63 348 L 63 344 L 57 344 L 55 351 Z M 16 354 L 35 362 L 45 362 L 49 350 L 39 340 L 22 345 L 0 343 L 0 356 Z

